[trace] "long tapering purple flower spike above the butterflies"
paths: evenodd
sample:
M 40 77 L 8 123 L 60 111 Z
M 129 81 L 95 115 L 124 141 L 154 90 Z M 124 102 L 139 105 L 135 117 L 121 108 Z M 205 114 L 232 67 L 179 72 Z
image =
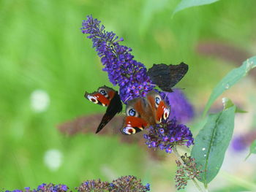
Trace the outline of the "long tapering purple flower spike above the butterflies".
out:
M 119 85 L 119 93 L 124 103 L 145 96 L 153 90 L 154 85 L 151 85 L 146 74 L 146 67 L 133 59 L 131 48 L 119 45 L 124 39 L 118 39 L 112 31 L 105 31 L 105 26 L 100 25 L 100 21 L 92 16 L 87 16 L 82 26 L 83 34 L 89 34 L 88 38 L 92 39 L 93 47 L 105 66 L 103 71 L 108 72 L 108 78 L 113 85 Z

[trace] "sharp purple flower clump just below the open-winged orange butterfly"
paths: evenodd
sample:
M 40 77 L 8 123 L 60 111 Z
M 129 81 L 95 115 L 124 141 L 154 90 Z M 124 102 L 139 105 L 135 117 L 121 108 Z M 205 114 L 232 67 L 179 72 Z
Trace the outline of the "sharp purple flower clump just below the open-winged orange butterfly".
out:
M 167 120 L 166 123 L 160 123 L 151 126 L 148 134 L 144 134 L 146 145 L 148 147 L 165 150 L 166 153 L 172 153 L 176 145 L 186 145 L 189 147 L 194 144 L 194 139 L 189 128 L 183 124 L 177 124 L 176 119 Z

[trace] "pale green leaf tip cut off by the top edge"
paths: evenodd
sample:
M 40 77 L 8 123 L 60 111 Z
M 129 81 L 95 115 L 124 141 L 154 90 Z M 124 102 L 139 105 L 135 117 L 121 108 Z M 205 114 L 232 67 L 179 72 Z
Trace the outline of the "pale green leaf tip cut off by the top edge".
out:
M 179 12 L 183 9 L 187 9 L 189 7 L 195 7 L 195 6 L 200 6 L 204 4 L 212 4 L 216 1 L 219 1 L 219 0 L 181 0 L 181 2 L 174 9 L 173 15 L 175 15 L 176 12 Z

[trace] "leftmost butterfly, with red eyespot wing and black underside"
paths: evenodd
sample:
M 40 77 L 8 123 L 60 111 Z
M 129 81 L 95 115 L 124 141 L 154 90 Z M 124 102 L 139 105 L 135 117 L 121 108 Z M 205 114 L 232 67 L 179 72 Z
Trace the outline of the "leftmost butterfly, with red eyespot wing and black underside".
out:
M 94 104 L 100 104 L 102 106 L 108 107 L 105 115 L 103 115 L 101 122 L 97 128 L 96 134 L 104 128 L 104 126 L 116 115 L 116 113 L 121 112 L 122 103 L 120 96 L 117 91 L 112 88 L 103 86 L 95 91 L 94 93 L 85 93 L 86 99 L 92 101 Z

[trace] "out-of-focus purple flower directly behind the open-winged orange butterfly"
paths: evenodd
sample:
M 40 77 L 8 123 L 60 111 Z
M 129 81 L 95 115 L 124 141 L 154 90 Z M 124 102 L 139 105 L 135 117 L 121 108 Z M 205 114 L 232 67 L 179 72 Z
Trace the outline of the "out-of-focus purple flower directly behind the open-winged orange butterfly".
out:
M 172 93 L 162 92 L 160 94 L 170 105 L 170 120 L 176 118 L 178 123 L 187 123 L 194 118 L 195 113 L 192 104 L 190 104 L 181 90 L 174 89 Z

